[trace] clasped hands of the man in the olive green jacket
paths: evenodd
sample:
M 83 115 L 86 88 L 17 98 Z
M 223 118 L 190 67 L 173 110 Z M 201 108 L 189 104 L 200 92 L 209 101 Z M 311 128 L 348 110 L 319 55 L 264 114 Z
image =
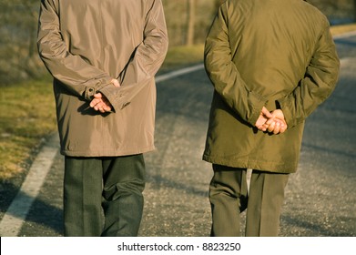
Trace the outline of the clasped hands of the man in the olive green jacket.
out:
M 262 108 L 255 126 L 263 132 L 267 131 L 274 135 L 284 133 L 287 130 L 287 123 L 282 110 L 276 109 L 270 112 L 266 107 Z

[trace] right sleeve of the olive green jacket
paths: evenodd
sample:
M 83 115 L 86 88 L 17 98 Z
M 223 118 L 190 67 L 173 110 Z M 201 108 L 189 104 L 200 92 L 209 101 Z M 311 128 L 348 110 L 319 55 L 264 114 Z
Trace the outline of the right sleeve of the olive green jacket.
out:
M 330 97 L 338 81 L 339 71 L 340 60 L 327 25 L 298 87 L 290 95 L 278 100 L 289 127 L 303 122 Z

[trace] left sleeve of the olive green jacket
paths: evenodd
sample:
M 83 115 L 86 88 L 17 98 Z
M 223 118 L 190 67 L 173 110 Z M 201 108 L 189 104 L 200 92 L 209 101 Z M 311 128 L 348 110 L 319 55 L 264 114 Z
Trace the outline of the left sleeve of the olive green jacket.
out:
M 227 10 L 221 5 L 206 40 L 204 62 L 215 90 L 240 117 L 255 125 L 267 99 L 251 91 L 232 62 Z

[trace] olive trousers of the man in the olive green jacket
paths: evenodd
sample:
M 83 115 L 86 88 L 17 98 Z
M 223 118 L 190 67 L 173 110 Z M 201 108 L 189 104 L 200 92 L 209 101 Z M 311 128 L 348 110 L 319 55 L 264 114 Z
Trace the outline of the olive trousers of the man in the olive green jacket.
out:
M 212 213 L 211 236 L 240 236 L 240 213 L 247 209 L 247 237 L 276 237 L 284 189 L 289 174 L 253 170 L 249 182 L 243 168 L 213 165 L 209 199 Z

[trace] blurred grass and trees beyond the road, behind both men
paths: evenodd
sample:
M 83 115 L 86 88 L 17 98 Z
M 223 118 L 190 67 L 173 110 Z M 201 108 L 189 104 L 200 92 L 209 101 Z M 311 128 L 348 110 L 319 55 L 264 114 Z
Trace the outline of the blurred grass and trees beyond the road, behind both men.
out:
M 160 72 L 200 63 L 221 0 L 162 2 L 169 50 Z M 333 26 L 356 19 L 356 0 L 308 2 L 327 15 Z M 38 148 L 56 132 L 51 79 L 36 49 L 39 5 L 39 0 L 0 0 L 0 189 L 1 182 L 28 168 Z

